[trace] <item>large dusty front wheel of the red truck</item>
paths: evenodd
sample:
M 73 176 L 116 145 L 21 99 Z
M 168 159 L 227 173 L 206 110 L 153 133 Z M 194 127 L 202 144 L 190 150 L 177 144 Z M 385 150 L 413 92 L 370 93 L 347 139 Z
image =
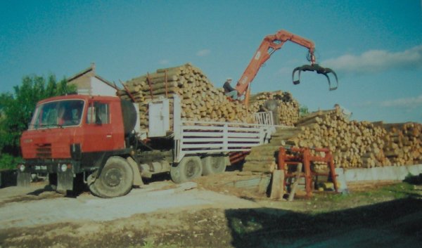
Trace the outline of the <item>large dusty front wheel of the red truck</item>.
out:
M 103 198 L 119 197 L 132 190 L 134 171 L 126 159 L 110 157 L 100 176 L 89 185 L 89 190 Z

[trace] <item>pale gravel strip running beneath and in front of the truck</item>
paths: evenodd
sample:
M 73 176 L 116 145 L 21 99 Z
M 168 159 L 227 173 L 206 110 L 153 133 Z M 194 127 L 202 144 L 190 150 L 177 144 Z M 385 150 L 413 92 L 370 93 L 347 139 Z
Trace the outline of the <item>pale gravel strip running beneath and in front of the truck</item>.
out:
M 101 199 L 87 192 L 63 197 L 38 183 L 0 189 L 0 230 L 72 221 L 111 221 L 133 214 L 186 207 L 256 207 L 251 201 L 198 190 L 196 183 L 155 182 L 128 195 Z M 255 205 L 255 206 L 254 206 Z

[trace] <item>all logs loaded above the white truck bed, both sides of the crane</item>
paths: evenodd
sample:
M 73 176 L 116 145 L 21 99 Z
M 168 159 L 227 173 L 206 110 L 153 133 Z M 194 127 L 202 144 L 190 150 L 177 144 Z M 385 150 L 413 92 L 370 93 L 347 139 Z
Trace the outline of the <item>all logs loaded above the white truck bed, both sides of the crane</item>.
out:
M 186 120 L 252 123 L 254 112 L 269 94 L 279 99 L 281 124 L 293 124 L 298 115 L 298 102 L 290 93 L 264 93 L 255 97 L 248 109 L 240 101 L 229 100 L 222 88 L 215 88 L 200 69 L 189 63 L 131 79 L 124 83 L 124 90 L 117 92 L 120 98 L 139 103 L 141 129 L 148 129 L 148 103 L 173 94 L 180 96 L 181 117 Z

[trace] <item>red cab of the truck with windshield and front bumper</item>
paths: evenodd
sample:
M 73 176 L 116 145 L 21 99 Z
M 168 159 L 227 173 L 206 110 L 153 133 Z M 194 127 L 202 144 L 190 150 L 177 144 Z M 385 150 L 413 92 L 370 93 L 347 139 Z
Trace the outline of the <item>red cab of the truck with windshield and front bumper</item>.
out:
M 58 191 L 72 190 L 101 169 L 108 157 L 125 156 L 122 100 L 112 96 L 58 96 L 41 100 L 20 138 L 20 184 L 28 175 L 49 174 Z

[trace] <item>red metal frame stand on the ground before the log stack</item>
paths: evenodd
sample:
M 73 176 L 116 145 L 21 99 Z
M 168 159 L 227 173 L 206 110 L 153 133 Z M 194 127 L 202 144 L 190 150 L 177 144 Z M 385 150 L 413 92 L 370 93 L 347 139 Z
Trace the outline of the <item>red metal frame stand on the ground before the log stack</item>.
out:
M 324 156 L 316 154 L 324 153 Z M 284 171 L 284 186 L 286 187 L 287 178 L 293 178 L 296 176 L 295 170 L 289 172 L 288 166 L 296 166 L 299 164 L 303 165 L 300 177 L 305 177 L 305 189 L 307 197 L 312 196 L 312 178 L 314 176 L 331 176 L 335 192 L 338 192 L 338 184 L 335 174 L 335 165 L 333 162 L 333 156 L 328 148 L 284 148 L 279 149 L 278 156 L 278 169 Z M 311 168 L 312 162 L 326 162 L 328 165 L 328 173 L 318 173 Z

